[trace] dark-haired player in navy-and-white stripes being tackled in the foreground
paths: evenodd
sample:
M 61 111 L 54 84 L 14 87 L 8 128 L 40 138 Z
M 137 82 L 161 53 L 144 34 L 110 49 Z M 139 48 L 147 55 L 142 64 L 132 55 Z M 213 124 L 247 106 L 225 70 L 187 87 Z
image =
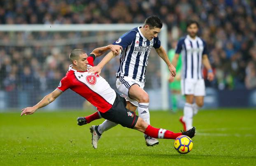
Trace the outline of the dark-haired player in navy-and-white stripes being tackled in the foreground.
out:
M 175 67 L 170 63 L 168 56 L 161 46 L 158 39 L 158 33 L 161 31 L 163 24 L 157 16 L 150 16 L 145 20 L 143 26 L 123 34 L 114 45 L 121 45 L 122 52 L 120 55 L 120 66 L 116 73 L 116 87 L 126 97 L 128 109 L 135 111 L 138 107 L 139 116 L 148 124 L 149 121 L 149 95 L 143 90 L 145 83 L 145 74 L 148 64 L 149 52 L 154 47 L 158 55 L 165 61 L 168 68 L 175 77 Z M 101 68 L 107 64 L 115 55 L 109 52 L 102 61 L 90 72 L 100 73 Z M 106 123 L 106 125 L 104 124 Z M 103 122 L 102 132 L 114 127 L 116 124 L 111 122 Z M 158 144 L 158 140 L 145 135 L 147 146 Z

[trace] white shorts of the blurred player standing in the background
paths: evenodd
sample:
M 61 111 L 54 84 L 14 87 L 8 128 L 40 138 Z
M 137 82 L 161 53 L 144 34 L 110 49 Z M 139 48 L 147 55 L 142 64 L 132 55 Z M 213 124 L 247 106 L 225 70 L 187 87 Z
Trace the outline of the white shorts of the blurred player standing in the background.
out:
M 182 95 L 205 96 L 205 81 L 182 79 L 181 80 Z

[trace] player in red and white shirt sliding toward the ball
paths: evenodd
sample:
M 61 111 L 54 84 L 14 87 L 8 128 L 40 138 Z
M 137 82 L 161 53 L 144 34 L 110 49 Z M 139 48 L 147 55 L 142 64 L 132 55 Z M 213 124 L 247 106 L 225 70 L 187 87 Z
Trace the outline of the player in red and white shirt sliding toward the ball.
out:
M 113 48 L 115 52 L 119 52 L 120 46 L 116 45 Z M 160 139 L 176 139 L 177 136 L 182 134 L 192 138 L 195 135 L 195 128 L 181 133 L 154 128 L 135 115 L 135 112 L 126 109 L 125 98 L 118 95 L 98 73 L 92 74 L 87 70 L 88 66 L 94 66 L 93 60 L 95 57 L 102 55 L 102 52 L 106 50 L 108 49 L 97 48 L 88 56 L 84 50 L 72 50 L 70 52 L 72 65 L 70 65 L 66 76 L 63 77 L 57 89 L 45 96 L 35 106 L 22 109 L 21 116 L 33 114 L 37 109 L 50 104 L 70 88 L 97 107 L 100 116 L 114 123 L 119 123 L 123 127 L 136 129 L 153 138 Z M 98 130 L 97 128 L 91 128 L 91 132 L 96 135 Z M 97 148 L 97 146 L 94 148 Z

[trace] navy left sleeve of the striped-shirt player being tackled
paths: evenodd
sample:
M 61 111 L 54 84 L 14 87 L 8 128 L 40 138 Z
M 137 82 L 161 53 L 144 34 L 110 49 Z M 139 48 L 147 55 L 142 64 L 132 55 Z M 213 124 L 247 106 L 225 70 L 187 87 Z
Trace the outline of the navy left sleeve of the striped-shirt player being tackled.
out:
M 121 45 L 123 49 L 127 48 L 133 40 L 136 38 L 137 32 L 131 30 L 123 34 L 116 42 L 112 43 L 113 45 Z

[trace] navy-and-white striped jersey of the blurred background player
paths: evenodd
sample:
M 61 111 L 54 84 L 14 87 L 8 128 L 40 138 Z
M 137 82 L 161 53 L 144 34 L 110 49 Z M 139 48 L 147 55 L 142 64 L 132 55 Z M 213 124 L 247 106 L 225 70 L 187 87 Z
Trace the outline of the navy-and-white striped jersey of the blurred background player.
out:
M 204 40 L 189 35 L 179 40 L 175 53 L 182 54 L 182 79 L 202 79 L 202 55 L 208 54 Z

